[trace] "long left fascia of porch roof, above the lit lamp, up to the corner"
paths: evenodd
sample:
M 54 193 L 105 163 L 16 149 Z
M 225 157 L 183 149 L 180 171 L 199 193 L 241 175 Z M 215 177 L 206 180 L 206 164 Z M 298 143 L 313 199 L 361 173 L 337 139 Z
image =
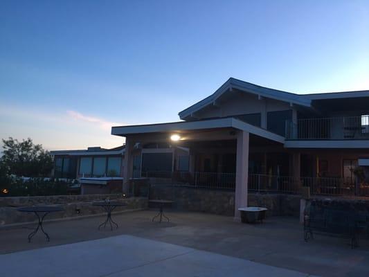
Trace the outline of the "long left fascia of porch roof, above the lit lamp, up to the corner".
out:
M 182 121 L 174 123 L 152 124 L 152 125 L 132 125 L 111 127 L 111 134 L 125 136 L 129 134 L 145 134 L 154 132 L 179 132 L 181 130 L 213 129 L 222 127 L 232 127 L 232 118 L 217 118 L 199 121 Z

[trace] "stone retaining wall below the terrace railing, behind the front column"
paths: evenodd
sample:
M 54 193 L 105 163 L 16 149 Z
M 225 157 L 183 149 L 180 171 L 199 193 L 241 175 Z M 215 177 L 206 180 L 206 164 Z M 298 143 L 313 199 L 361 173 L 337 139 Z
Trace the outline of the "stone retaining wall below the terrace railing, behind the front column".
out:
M 233 215 L 235 193 L 228 190 L 209 190 L 156 185 L 150 188 L 150 199 L 172 199 L 174 208 L 219 215 Z M 300 195 L 249 193 L 249 206 L 268 208 L 269 215 L 300 214 Z

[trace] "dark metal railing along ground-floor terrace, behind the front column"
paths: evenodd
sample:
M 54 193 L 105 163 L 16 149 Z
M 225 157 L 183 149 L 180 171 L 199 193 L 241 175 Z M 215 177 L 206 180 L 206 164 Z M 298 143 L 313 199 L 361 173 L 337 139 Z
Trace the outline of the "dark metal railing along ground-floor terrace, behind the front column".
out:
M 235 190 L 235 173 L 217 172 L 143 172 L 153 186 L 181 186 Z M 340 177 L 290 177 L 249 174 L 249 192 L 300 194 L 309 187 L 312 195 L 369 197 L 369 184 L 356 186 Z

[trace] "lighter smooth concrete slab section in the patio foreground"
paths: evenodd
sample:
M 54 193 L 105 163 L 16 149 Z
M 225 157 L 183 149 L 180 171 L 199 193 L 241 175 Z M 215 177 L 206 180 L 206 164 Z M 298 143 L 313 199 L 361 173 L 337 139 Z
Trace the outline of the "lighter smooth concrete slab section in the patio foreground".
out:
M 0 267 L 9 277 L 309 276 L 132 235 L 10 253 L 1 257 Z

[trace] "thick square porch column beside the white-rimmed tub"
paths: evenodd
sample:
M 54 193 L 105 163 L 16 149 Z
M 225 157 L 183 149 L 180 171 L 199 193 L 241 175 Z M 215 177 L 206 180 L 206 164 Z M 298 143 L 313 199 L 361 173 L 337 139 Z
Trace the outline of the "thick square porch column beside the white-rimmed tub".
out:
M 249 132 L 237 133 L 235 220 L 240 221 L 238 208 L 247 206 L 249 177 Z

